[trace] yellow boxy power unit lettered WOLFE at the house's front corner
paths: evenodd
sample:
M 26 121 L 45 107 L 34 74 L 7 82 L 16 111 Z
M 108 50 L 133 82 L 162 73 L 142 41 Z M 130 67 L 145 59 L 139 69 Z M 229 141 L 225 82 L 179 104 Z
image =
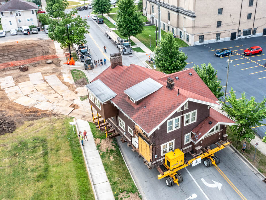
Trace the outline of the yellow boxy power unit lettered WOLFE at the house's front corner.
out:
M 165 164 L 169 170 L 184 164 L 184 153 L 180 149 L 172 150 L 165 154 Z

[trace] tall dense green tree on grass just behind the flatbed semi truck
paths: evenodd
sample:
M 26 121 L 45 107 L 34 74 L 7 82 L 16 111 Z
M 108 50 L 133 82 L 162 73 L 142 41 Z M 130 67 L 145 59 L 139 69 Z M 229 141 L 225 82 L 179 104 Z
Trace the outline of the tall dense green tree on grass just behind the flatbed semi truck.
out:
M 134 0 L 120 0 L 117 12 L 117 29 L 122 36 L 137 36 L 143 30 L 141 14 L 136 12 Z

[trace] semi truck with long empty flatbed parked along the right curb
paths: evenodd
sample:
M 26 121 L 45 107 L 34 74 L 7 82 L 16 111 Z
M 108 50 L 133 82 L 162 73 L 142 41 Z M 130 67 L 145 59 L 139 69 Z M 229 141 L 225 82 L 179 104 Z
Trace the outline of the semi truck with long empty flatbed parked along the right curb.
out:
M 117 46 L 117 49 L 121 51 L 122 54 L 129 54 L 133 53 L 133 50 L 131 48 L 131 42 L 129 42 L 126 39 L 121 39 L 115 32 L 113 31 L 106 31 L 105 35 L 108 36 L 108 39 L 111 39 L 115 45 Z

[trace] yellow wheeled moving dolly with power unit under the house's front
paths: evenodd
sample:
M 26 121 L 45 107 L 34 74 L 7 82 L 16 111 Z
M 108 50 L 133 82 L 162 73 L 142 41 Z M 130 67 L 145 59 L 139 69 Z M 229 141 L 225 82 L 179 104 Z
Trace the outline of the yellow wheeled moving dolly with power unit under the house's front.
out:
M 167 186 L 172 186 L 174 183 L 176 183 L 179 186 L 179 183 L 183 181 L 182 175 L 178 172 L 179 170 L 193 164 L 192 166 L 195 166 L 201 162 L 201 159 L 204 159 L 203 164 L 205 167 L 209 167 L 211 165 L 216 166 L 220 163 L 220 158 L 215 156 L 214 153 L 217 151 L 220 151 L 224 149 L 225 147 L 228 147 L 231 145 L 232 142 L 230 140 L 227 140 L 224 143 L 215 143 L 217 146 L 214 149 L 202 149 L 203 152 L 199 154 L 198 156 L 192 155 L 194 158 L 191 160 L 186 160 L 184 157 L 184 153 L 180 151 L 179 149 L 175 149 L 173 151 L 170 151 L 165 154 L 165 163 L 163 164 L 167 171 L 163 172 L 162 169 L 158 166 L 157 170 L 160 172 L 160 174 L 157 176 L 157 178 L 160 180 L 162 178 L 166 178 L 166 184 Z

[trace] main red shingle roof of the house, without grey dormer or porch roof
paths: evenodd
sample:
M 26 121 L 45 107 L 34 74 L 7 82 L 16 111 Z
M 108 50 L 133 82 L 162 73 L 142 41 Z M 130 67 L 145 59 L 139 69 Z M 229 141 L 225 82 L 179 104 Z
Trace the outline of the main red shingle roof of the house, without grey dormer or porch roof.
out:
M 189 72 L 193 75 L 190 76 Z M 178 76 L 179 80 L 176 80 L 175 76 Z M 174 79 L 175 88 L 172 91 L 166 88 L 167 77 Z M 128 99 L 124 90 L 147 78 L 152 78 L 161 83 L 163 87 L 145 97 L 136 105 Z M 193 69 L 166 75 L 162 72 L 131 64 L 130 66 L 116 66 L 114 69 L 108 67 L 92 82 L 97 79 L 100 79 L 117 94 L 111 101 L 147 133 L 164 121 L 188 98 L 220 106 L 219 103 L 216 103 L 218 99 Z M 180 89 L 180 94 L 177 96 L 178 89 Z M 144 108 L 145 105 L 146 108 Z

